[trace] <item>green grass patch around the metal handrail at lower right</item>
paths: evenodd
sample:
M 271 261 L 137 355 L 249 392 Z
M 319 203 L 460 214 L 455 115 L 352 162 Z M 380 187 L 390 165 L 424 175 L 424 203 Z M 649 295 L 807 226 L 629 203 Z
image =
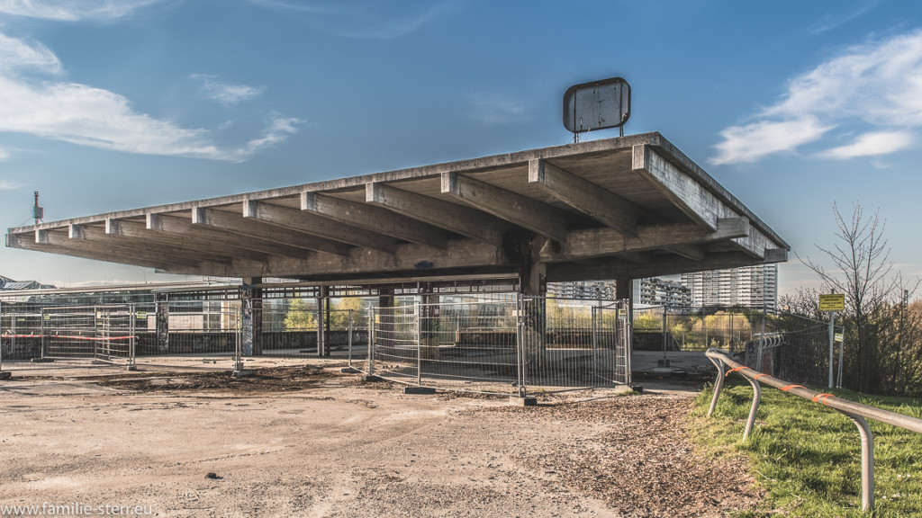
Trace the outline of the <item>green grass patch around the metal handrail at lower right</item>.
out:
M 729 382 L 730 379 L 727 380 Z M 845 390 L 834 394 L 922 418 L 922 401 L 869 397 Z M 691 434 L 713 456 L 749 458 L 765 500 L 739 518 L 822 516 L 891 518 L 922 516 L 922 434 L 869 420 L 874 432 L 875 511 L 861 512 L 861 443 L 855 424 L 838 412 L 798 396 L 762 386 L 755 430 L 743 444 L 752 401 L 748 383 L 729 383 L 715 414 L 707 418 L 713 390 L 695 402 Z

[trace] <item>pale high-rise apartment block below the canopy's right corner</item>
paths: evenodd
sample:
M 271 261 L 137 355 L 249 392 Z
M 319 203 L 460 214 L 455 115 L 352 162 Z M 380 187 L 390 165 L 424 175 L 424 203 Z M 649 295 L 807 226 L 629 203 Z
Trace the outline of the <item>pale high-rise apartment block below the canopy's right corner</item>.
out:
M 755 265 L 682 274 L 691 306 L 742 306 L 774 309 L 778 303 L 778 266 Z

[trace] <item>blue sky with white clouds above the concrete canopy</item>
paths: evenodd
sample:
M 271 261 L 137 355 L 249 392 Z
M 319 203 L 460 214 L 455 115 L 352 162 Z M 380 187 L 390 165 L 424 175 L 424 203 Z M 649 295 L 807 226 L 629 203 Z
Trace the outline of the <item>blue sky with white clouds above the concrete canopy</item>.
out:
M 571 142 L 575 83 L 658 131 L 801 257 L 833 203 L 922 273 L 922 3 L 0 0 L 0 226 Z M 617 130 L 588 138 L 614 136 Z M 791 254 L 782 293 L 817 286 Z M 0 249 L 60 286 L 152 271 Z

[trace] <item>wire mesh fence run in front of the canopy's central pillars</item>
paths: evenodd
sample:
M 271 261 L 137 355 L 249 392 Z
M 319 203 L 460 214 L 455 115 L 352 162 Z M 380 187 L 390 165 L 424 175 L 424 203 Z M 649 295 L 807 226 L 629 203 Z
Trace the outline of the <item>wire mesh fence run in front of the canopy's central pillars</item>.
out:
M 366 371 L 491 394 L 631 383 L 626 302 L 516 298 L 374 308 Z

